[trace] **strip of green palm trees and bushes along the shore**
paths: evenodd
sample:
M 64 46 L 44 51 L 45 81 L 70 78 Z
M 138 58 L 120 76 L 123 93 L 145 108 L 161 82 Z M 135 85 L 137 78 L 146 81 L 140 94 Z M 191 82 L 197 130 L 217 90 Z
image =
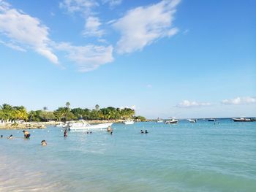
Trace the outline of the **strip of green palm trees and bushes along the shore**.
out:
M 95 105 L 95 109 L 70 108 L 70 103 L 67 102 L 65 107 L 59 107 L 57 110 L 50 112 L 48 107 L 43 107 L 43 110 L 26 111 L 23 106 L 12 107 L 10 104 L 0 106 L 0 120 L 25 120 L 25 121 L 49 121 L 49 120 L 126 120 L 135 119 L 144 121 L 146 118 L 142 116 L 135 117 L 135 110 L 129 108 L 106 107 L 100 108 L 99 104 Z

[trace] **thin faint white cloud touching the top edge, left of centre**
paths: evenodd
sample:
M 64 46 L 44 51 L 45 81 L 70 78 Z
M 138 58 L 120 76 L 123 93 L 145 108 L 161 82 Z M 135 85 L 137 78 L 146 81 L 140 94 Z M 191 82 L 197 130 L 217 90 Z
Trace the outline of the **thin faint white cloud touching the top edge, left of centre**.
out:
M 91 13 L 91 8 L 99 4 L 94 0 L 64 0 L 59 4 L 62 9 L 67 9 L 68 12 L 83 12 L 88 15 Z

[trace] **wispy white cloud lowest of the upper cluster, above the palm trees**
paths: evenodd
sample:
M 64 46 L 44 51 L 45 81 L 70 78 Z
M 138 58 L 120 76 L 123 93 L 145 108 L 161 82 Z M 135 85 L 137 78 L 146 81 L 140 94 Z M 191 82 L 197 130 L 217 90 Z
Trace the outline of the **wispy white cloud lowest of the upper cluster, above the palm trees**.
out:
M 113 47 L 87 45 L 73 46 L 69 43 L 56 45 L 58 50 L 67 52 L 67 58 L 78 65 L 80 72 L 89 72 L 113 61 Z

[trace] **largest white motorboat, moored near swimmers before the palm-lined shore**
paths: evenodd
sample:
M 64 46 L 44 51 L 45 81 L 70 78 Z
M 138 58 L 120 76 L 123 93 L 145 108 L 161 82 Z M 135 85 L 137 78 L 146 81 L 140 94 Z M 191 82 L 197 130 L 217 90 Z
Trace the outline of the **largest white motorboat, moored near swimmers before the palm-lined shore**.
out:
M 113 123 L 100 123 L 91 125 L 86 122 L 86 120 L 80 120 L 78 123 L 69 123 L 67 128 L 69 130 L 84 130 L 84 129 L 101 129 L 101 128 L 108 128 L 109 126 L 112 126 Z

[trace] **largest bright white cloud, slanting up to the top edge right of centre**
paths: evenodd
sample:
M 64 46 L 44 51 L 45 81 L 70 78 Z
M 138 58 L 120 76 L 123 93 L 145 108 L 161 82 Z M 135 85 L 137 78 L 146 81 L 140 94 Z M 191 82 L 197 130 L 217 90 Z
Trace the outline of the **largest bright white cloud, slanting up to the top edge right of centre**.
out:
M 163 0 L 148 7 L 131 9 L 113 23 L 121 32 L 117 42 L 118 53 L 132 53 L 142 50 L 156 39 L 171 37 L 178 32 L 173 28 L 174 14 L 179 0 Z

